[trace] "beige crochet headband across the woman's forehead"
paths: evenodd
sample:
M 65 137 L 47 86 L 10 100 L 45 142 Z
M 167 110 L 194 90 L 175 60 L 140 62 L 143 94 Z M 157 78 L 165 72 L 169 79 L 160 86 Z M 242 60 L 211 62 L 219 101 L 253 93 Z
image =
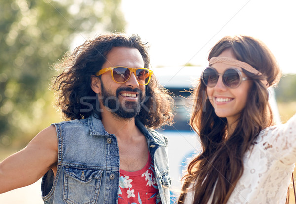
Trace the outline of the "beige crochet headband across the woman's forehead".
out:
M 246 71 L 253 73 L 255 75 L 261 76 L 263 75 L 261 72 L 259 72 L 257 69 L 253 68 L 248 63 L 242 62 L 240 60 L 236 60 L 229 57 L 212 57 L 209 61 L 209 65 L 213 65 L 214 63 L 225 63 L 227 65 L 235 65 L 238 67 L 241 67 L 245 69 Z M 261 80 L 261 82 L 266 86 L 269 87 L 269 84 L 266 79 Z

